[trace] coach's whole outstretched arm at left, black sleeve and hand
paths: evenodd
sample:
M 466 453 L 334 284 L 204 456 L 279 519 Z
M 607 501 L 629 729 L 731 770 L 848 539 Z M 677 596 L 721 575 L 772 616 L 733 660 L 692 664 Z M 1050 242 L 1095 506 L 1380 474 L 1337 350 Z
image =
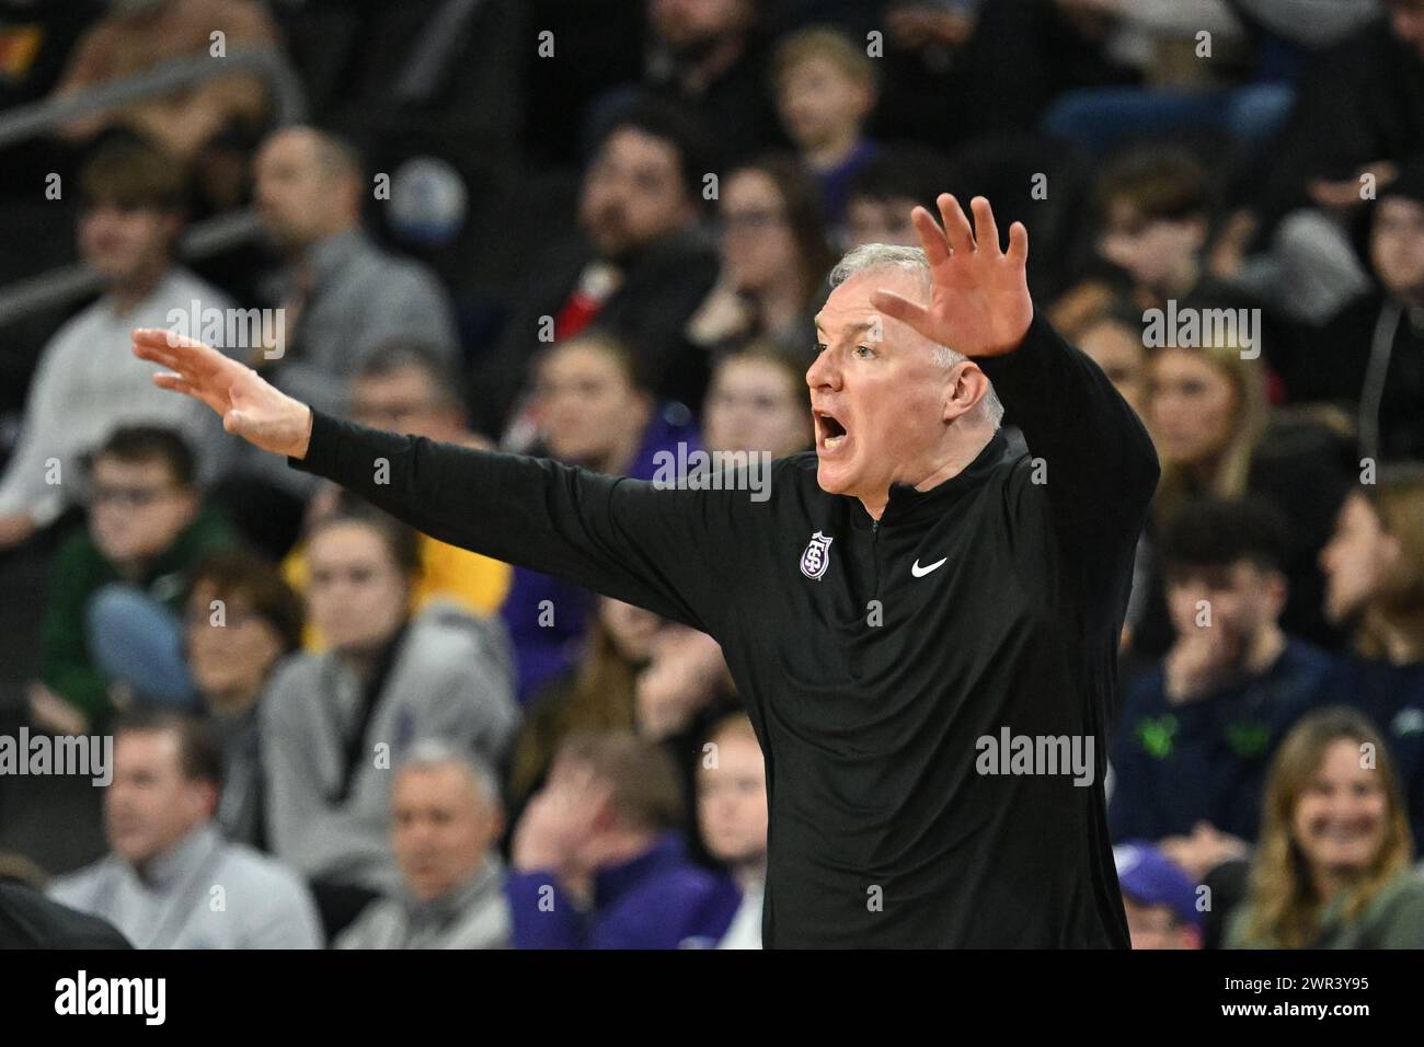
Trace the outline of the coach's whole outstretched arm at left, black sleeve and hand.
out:
M 659 490 L 342 422 L 167 330 L 134 332 L 134 352 L 167 368 L 154 382 L 206 403 L 229 433 L 286 454 L 431 537 L 716 634 L 705 615 L 725 593 L 712 591 L 713 580 L 731 575 L 736 517 L 749 504 L 731 491 Z

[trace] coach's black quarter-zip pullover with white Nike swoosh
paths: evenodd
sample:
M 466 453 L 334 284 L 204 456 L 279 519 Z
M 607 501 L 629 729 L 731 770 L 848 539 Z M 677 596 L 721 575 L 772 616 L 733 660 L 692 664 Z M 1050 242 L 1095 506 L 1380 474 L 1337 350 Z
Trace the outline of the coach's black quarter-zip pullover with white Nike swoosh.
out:
M 1045 321 L 978 363 L 1028 454 L 995 434 L 879 523 L 815 453 L 756 501 L 316 413 L 290 464 L 722 644 L 766 758 L 766 946 L 1126 947 L 1104 772 L 1156 456 Z

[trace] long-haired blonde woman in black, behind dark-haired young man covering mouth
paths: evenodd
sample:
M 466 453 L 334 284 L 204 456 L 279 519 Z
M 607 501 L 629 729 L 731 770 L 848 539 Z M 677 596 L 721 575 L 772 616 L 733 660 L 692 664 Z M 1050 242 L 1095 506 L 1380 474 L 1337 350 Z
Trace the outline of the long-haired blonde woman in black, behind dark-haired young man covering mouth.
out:
M 1284 571 L 1290 581 L 1282 625 L 1320 647 L 1339 635 L 1321 611 L 1319 556 L 1344 497 L 1347 444 L 1329 427 L 1270 413 L 1259 359 L 1230 345 L 1162 346 L 1151 356 L 1146 420 L 1162 462 L 1151 533 L 1198 496 L 1270 501 L 1289 521 Z M 1161 573 L 1134 631 L 1134 648 L 1162 654 L 1171 642 Z

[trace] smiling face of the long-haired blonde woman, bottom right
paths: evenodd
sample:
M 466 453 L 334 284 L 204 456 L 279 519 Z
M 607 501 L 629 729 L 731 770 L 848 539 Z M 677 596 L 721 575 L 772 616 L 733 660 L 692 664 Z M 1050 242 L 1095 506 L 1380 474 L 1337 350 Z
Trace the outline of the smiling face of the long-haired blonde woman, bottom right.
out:
M 1290 828 L 1317 869 L 1358 875 L 1384 846 L 1390 799 L 1373 761 L 1341 738 L 1326 749 L 1314 779 L 1296 801 Z

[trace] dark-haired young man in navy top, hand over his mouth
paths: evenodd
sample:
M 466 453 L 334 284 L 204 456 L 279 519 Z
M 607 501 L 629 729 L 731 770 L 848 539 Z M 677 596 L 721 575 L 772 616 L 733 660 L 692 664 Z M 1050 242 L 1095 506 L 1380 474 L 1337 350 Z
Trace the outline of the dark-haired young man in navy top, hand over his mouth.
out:
M 1178 513 L 1162 550 L 1176 640 L 1115 731 L 1114 839 L 1158 842 L 1196 882 L 1255 839 L 1270 754 L 1331 670 L 1280 628 L 1282 527 L 1253 501 Z

